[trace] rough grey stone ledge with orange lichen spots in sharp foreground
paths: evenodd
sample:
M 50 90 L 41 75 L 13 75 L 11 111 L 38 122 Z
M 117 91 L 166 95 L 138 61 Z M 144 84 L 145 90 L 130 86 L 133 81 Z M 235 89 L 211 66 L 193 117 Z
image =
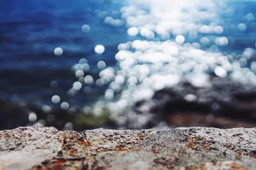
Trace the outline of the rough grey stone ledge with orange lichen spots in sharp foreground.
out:
M 0 131 L 0 169 L 256 169 L 256 129 Z

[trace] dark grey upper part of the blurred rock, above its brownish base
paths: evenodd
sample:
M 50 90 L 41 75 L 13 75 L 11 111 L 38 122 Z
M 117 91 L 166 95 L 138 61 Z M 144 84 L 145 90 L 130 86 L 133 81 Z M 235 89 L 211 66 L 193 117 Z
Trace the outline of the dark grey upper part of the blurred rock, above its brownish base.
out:
M 175 87 L 159 90 L 153 97 L 153 109 L 166 113 L 215 113 L 256 121 L 255 87 L 241 85 L 227 78 L 212 78 L 210 82 L 209 87 L 198 88 L 191 83 L 180 82 Z

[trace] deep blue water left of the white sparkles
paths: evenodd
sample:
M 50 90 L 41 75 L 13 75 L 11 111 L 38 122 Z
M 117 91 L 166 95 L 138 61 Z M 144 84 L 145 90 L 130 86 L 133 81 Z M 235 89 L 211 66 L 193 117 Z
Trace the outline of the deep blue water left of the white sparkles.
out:
M 96 74 L 97 62 L 104 59 L 115 65 L 120 42 L 127 41 L 123 27 L 102 23 L 122 3 L 111 1 L 1 1 L 0 2 L 0 96 L 2 99 L 51 103 L 53 93 L 65 96 L 74 75 L 70 67 L 86 58 L 90 72 Z M 117 14 L 118 15 L 118 14 Z M 116 16 L 118 17 L 118 16 Z M 81 31 L 88 24 L 90 33 Z M 95 56 L 97 44 L 106 46 L 104 55 Z M 63 48 L 55 56 L 54 48 Z M 51 89 L 52 80 L 60 86 Z

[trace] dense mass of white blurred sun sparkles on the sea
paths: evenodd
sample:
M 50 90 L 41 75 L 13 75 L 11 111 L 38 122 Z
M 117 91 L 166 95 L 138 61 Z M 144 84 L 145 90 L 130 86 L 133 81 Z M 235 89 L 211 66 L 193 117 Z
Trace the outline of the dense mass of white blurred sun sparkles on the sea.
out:
M 115 118 L 137 101 L 150 99 L 156 90 L 173 87 L 181 80 L 189 81 L 195 87 L 208 87 L 209 73 L 240 83 L 256 84 L 256 62 L 249 63 L 255 56 L 255 49 L 246 48 L 242 54 L 220 50 L 234 40 L 224 33 L 246 31 L 252 27 L 254 15 L 247 13 L 244 23 L 226 25 L 221 12 L 232 16 L 234 10 L 223 1 L 129 0 L 127 6 L 113 14 L 93 11 L 103 24 L 125 25 L 127 36 L 132 36 L 132 41 L 117 46 L 116 67 L 106 67 L 103 60 L 97 62 L 100 73 L 98 78 L 95 76 L 95 84 L 94 76 L 83 78 L 82 74 L 91 66 L 86 59 L 72 67 L 79 78 L 77 82 L 86 84 L 84 93 L 90 94 L 95 86 L 106 87 L 102 96 L 106 101 L 97 101 L 90 112 L 100 115 L 104 108 L 108 108 L 111 117 Z M 120 19 L 116 19 L 119 15 Z M 94 51 L 102 54 L 105 47 L 96 45 Z M 245 67 L 248 64 L 250 69 Z M 72 90 L 82 88 L 77 85 L 73 85 Z M 197 98 L 188 94 L 184 99 L 193 102 Z

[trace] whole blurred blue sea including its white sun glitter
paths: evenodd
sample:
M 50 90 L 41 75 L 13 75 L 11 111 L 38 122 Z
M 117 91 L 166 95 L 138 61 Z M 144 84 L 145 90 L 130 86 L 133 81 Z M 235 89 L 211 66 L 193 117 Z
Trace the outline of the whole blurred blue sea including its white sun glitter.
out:
M 0 95 L 110 117 L 181 80 L 256 84 L 255 1 L 6 1 Z

